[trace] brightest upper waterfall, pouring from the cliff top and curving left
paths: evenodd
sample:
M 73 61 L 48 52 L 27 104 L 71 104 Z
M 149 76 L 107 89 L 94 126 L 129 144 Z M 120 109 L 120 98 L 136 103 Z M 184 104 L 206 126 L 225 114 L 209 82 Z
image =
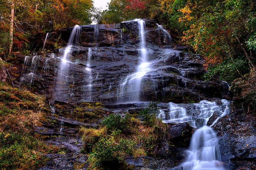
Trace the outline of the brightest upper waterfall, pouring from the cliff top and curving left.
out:
M 140 97 L 140 86 L 141 81 L 144 75 L 150 71 L 148 62 L 148 49 L 146 48 L 145 41 L 145 32 L 144 26 L 145 22 L 142 19 L 135 19 L 134 21 L 138 22 L 139 30 L 140 30 L 140 49 L 139 49 L 139 57 L 141 63 L 138 67 L 138 71 L 134 74 L 128 75 L 123 83 L 119 87 L 119 96 L 117 98 L 117 103 L 126 103 L 126 102 L 134 102 L 139 101 Z M 132 95 L 128 94 L 131 93 Z M 128 95 L 127 95 L 128 94 Z

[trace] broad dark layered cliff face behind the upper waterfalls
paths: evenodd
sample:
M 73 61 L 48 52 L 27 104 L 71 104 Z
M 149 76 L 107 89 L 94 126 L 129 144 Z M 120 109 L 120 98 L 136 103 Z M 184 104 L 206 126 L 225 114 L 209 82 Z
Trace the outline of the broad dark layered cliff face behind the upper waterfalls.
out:
M 77 46 L 71 46 L 63 68 L 65 48 L 73 28 L 52 32 L 45 50 L 20 58 L 20 76 L 15 84 L 53 102 L 100 101 L 106 104 L 136 100 L 133 90 L 122 89 L 127 77 L 139 72 L 140 29 L 137 21 L 116 25 L 83 25 Z M 154 20 L 145 20 L 148 70 L 141 79 L 137 100 L 163 102 L 197 102 L 227 94 L 223 82 L 204 82 L 200 55 L 171 48 L 171 38 Z M 44 41 L 44 38 L 42 38 Z M 56 43 L 57 42 L 57 43 Z M 65 51 L 66 50 L 66 51 Z M 127 88 L 127 87 L 125 87 Z

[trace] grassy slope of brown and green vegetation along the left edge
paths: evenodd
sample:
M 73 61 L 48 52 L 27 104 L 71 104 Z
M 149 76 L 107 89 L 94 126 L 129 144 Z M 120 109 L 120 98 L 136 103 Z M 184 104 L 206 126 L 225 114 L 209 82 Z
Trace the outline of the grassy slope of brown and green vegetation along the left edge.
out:
M 47 111 L 44 97 L 0 81 L 0 169 L 36 168 L 48 160 L 44 154 L 59 150 L 33 131 Z

